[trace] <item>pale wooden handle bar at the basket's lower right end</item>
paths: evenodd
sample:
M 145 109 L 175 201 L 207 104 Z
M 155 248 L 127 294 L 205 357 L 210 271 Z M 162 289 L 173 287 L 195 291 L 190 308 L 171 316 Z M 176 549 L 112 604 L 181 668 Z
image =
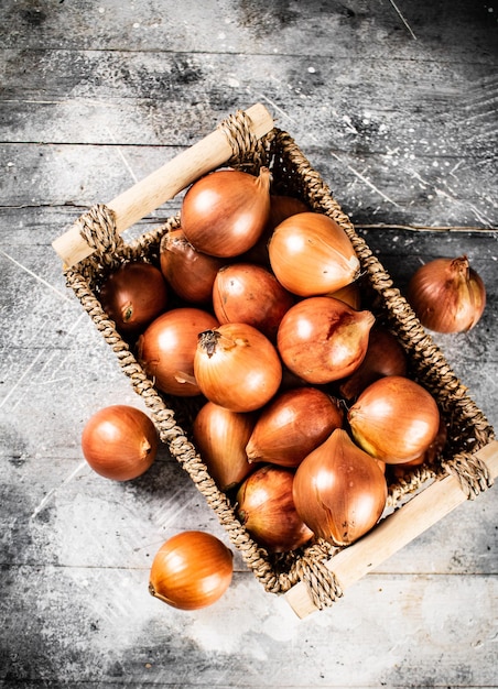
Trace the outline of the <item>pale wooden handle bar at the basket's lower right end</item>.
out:
M 496 479 L 498 440 L 478 450 L 476 457 L 486 463 L 491 478 Z M 455 477 L 447 475 L 435 481 L 387 516 L 364 538 L 327 560 L 326 566 L 334 572 L 344 591 L 466 500 Z M 303 581 L 293 586 L 284 597 L 300 617 L 317 610 Z

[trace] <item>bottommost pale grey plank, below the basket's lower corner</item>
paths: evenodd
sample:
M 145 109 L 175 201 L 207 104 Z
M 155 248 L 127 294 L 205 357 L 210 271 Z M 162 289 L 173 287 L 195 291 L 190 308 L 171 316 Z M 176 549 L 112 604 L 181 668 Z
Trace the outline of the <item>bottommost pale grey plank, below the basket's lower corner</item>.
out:
M 48 566 L 41 578 L 24 566 L 3 576 L 19 615 L 4 615 L 0 600 L 4 687 L 497 683 L 496 577 L 371 575 L 308 623 L 245 575 L 197 613 L 150 597 L 147 568 Z

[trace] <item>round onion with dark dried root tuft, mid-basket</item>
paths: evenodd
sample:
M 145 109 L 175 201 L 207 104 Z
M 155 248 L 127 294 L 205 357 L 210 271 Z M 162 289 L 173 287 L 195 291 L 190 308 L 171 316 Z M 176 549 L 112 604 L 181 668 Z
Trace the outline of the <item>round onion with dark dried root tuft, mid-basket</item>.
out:
M 282 380 L 270 340 L 247 324 L 224 324 L 201 333 L 194 374 L 202 393 L 232 412 L 253 412 L 275 394 Z

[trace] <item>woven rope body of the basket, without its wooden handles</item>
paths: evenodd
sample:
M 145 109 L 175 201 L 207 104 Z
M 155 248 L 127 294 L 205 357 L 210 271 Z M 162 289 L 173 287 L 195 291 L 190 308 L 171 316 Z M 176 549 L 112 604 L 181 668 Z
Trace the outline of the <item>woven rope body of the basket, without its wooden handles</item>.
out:
M 456 477 L 464 500 L 486 490 L 492 482 L 492 475 L 477 451 L 492 441 L 492 428 L 293 139 L 275 128 L 257 139 L 250 118 L 242 111 L 227 118 L 220 131 L 232 151 L 231 158 L 226 163 L 253 174 L 263 165 L 270 167 L 273 193 L 297 197 L 312 209 L 331 216 L 344 228 L 360 261 L 362 280 L 375 295 L 372 310 L 377 319 L 397 333 L 408 353 L 410 376 L 429 390 L 439 404 L 448 438 L 443 453 L 431 466 L 421 466 L 392 483 L 388 504 L 402 512 L 404 505 L 414 500 L 412 495 L 427 490 L 426 485 L 447 474 Z M 77 220 L 78 231 L 93 253 L 77 265 L 64 269 L 67 285 L 112 348 L 122 371 L 150 409 L 161 440 L 188 472 L 266 590 L 284 593 L 304 582 L 314 608 L 331 605 L 342 595 L 340 581 L 334 573 L 334 558 L 340 549 L 317 542 L 275 556 L 255 543 L 237 520 L 228 497 L 217 489 L 192 441 L 192 422 L 202 402 L 199 398 L 172 397 L 159 392 L 139 364 L 132 343 L 117 331 L 99 302 L 102 282 L 123 262 L 139 260 L 159 264 L 161 238 L 180 226 L 178 216 L 130 243 L 122 241 L 116 231 L 115 220 L 115 214 L 105 205 L 95 206 Z

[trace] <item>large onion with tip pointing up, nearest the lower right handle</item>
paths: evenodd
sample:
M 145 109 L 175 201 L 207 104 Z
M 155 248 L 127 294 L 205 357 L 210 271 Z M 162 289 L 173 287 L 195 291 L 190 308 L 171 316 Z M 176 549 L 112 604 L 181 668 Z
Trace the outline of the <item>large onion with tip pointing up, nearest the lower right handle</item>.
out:
M 340 428 L 297 467 L 294 504 L 314 534 L 347 546 L 379 521 L 387 482 L 377 462 Z

